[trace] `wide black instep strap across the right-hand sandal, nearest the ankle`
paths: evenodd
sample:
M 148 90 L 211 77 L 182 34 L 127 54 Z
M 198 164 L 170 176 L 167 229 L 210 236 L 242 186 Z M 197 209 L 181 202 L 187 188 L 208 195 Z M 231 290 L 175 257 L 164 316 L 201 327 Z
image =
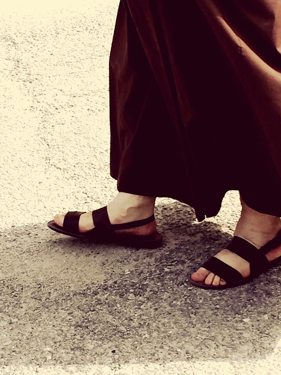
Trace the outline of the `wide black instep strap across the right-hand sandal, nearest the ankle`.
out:
M 260 249 L 241 237 L 234 236 L 226 246 L 226 249 L 250 263 L 251 275 L 265 272 L 268 268 L 268 258 L 266 258 Z

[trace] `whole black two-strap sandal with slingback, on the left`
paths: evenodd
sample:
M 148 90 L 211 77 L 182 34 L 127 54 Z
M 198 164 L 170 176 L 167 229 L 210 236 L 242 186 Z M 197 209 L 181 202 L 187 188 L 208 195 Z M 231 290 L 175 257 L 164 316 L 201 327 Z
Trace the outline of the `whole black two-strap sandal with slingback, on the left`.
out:
M 157 231 L 146 235 L 117 234 L 114 231 L 119 229 L 136 228 L 146 225 L 155 220 L 154 214 L 147 219 L 135 220 L 121 224 L 111 224 L 107 206 L 98 208 L 92 212 L 94 228 L 88 232 L 79 232 L 80 211 L 69 211 L 64 217 L 63 226 L 57 225 L 54 220 L 47 223 L 48 227 L 58 233 L 66 234 L 76 238 L 93 240 L 99 243 L 115 243 L 117 245 L 128 245 L 135 248 L 155 249 L 162 246 L 163 237 Z

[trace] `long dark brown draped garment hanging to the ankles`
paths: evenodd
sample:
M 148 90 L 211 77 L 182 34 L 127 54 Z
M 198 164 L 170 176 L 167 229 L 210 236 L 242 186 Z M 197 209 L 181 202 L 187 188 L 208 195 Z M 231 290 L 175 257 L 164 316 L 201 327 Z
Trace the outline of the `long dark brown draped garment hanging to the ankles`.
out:
M 281 1 L 121 0 L 109 58 L 118 191 L 281 217 Z

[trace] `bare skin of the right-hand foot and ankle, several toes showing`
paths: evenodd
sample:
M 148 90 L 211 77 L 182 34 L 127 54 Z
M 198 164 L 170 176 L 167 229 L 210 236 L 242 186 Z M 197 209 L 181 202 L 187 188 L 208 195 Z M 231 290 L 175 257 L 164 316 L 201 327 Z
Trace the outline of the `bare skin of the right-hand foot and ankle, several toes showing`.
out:
M 274 238 L 281 229 L 280 217 L 259 213 L 248 207 L 240 195 L 242 205 L 241 216 L 238 220 L 234 236 L 242 237 L 252 243 L 257 248 L 263 246 L 266 242 Z M 257 249 L 257 251 L 259 251 Z M 281 255 L 281 246 L 266 254 L 269 261 Z M 229 266 L 238 270 L 244 277 L 250 275 L 250 264 L 232 253 L 227 249 L 223 249 L 215 255 L 216 258 L 227 263 Z M 226 282 L 214 273 L 200 267 L 199 270 L 191 275 L 194 281 L 203 281 L 208 285 L 224 285 Z

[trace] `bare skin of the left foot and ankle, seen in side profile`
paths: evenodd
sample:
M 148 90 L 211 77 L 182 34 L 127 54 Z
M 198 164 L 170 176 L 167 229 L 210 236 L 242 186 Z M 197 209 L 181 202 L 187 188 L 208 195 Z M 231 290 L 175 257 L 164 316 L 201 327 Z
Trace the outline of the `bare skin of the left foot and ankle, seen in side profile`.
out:
M 127 223 L 146 219 L 154 213 L 155 197 L 118 192 L 112 202 L 107 205 L 108 217 L 111 224 Z M 64 216 L 67 213 L 56 214 L 54 222 L 63 226 Z M 115 233 L 130 233 L 146 235 L 156 230 L 155 220 L 149 224 L 130 229 L 116 230 Z M 92 211 L 83 213 L 79 218 L 79 232 L 85 233 L 94 228 Z

